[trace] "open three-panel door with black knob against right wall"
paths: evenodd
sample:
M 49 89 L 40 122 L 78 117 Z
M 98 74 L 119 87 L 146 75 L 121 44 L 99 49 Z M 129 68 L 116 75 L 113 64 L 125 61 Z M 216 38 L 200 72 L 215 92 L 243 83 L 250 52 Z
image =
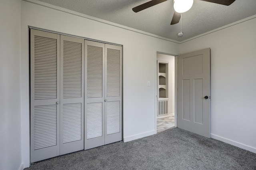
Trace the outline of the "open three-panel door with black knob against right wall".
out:
M 177 126 L 210 138 L 210 48 L 178 56 Z

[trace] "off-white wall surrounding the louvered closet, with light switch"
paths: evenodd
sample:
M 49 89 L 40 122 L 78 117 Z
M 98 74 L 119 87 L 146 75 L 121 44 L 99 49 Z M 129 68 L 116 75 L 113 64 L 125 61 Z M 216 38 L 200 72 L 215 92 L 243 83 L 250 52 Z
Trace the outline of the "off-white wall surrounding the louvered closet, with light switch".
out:
M 55 8 L 54 6 L 51 7 Z M 180 53 L 179 44 L 156 38 L 156 36 L 154 37 L 154 35 L 146 32 L 140 32 L 69 10 L 60 8 L 55 10 L 52 8 L 22 1 L 21 90 L 22 136 L 24 136 L 22 147 L 28 151 L 30 146 L 28 26 L 123 45 L 124 141 L 155 134 L 154 105 L 156 87 L 154 81 L 156 50 L 164 53 L 178 54 Z M 147 85 L 148 81 L 151 82 L 149 87 Z M 29 152 L 24 152 L 22 156 L 25 166 L 28 166 Z

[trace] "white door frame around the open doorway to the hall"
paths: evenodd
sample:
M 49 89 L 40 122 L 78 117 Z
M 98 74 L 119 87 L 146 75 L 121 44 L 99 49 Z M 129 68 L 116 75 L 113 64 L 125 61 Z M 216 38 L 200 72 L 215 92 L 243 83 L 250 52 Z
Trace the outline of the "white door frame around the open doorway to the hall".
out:
M 157 133 L 157 111 L 158 111 L 158 76 L 157 76 L 157 53 L 174 56 L 174 127 L 177 127 L 177 71 L 178 71 L 178 54 L 171 54 L 167 52 L 158 51 L 155 49 L 155 57 L 154 57 L 154 99 L 155 99 L 155 134 Z

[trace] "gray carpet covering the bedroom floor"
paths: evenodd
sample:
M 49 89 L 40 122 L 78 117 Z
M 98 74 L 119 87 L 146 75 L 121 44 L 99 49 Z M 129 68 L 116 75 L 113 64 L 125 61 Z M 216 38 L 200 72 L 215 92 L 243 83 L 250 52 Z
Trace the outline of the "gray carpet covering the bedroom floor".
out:
M 43 160 L 25 170 L 256 170 L 256 154 L 174 128 Z

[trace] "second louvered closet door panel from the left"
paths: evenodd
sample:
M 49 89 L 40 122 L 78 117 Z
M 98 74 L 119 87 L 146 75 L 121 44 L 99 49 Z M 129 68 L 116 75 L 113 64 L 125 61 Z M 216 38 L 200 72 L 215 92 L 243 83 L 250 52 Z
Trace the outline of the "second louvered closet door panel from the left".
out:
M 84 39 L 60 36 L 60 155 L 84 149 Z

